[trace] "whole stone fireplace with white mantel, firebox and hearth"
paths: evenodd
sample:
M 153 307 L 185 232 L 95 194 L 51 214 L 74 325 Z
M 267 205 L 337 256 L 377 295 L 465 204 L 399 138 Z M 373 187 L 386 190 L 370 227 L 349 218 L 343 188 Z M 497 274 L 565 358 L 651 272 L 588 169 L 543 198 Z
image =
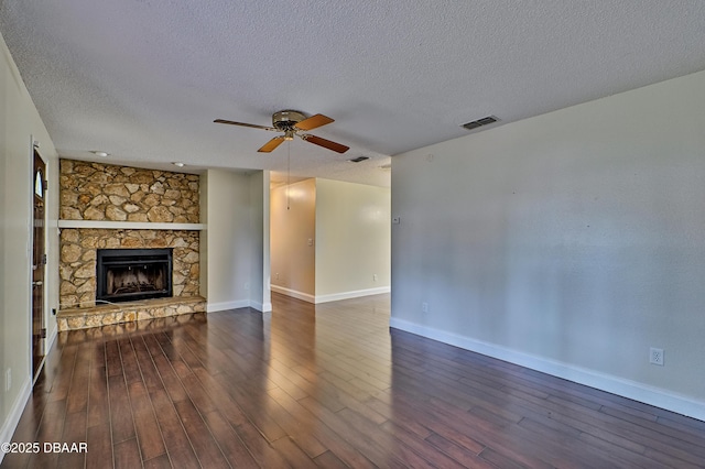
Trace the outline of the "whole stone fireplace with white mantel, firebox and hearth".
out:
M 205 310 L 198 176 L 61 161 L 58 329 Z

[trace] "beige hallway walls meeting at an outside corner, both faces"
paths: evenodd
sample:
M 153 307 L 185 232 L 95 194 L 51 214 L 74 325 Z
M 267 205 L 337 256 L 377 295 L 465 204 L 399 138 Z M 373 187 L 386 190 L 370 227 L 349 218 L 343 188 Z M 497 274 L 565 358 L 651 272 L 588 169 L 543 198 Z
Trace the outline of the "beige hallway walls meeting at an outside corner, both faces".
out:
M 272 288 L 311 303 L 389 291 L 386 187 L 307 179 L 271 192 Z

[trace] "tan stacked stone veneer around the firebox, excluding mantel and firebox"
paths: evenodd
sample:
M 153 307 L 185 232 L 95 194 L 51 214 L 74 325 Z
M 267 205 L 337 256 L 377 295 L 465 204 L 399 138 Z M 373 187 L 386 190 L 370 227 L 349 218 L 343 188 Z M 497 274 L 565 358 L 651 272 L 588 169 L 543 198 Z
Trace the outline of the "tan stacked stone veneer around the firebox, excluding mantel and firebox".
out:
M 101 163 L 61 161 L 61 220 L 105 222 L 105 228 L 62 228 L 59 255 L 59 327 L 93 327 L 204 309 L 199 292 L 199 231 L 149 229 L 149 223 L 198 223 L 198 176 Z M 140 222 L 112 228 L 111 222 Z M 160 301 L 134 314 L 96 307 L 98 249 L 173 248 L 174 307 Z M 193 301 L 192 301 L 193 299 Z M 93 308 L 77 315 L 75 308 Z M 126 304 L 122 309 L 132 309 Z M 98 317 L 91 319 L 90 314 Z M 68 316 L 73 318 L 68 325 Z M 78 326 L 78 316 L 84 317 Z M 65 318 L 66 320 L 62 320 Z

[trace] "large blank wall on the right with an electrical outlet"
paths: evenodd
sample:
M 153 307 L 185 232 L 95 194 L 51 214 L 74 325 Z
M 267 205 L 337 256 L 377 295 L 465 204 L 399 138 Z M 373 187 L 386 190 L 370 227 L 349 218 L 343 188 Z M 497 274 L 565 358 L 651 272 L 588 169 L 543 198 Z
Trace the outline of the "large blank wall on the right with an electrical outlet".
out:
M 392 326 L 705 419 L 704 109 L 705 72 L 394 156 Z

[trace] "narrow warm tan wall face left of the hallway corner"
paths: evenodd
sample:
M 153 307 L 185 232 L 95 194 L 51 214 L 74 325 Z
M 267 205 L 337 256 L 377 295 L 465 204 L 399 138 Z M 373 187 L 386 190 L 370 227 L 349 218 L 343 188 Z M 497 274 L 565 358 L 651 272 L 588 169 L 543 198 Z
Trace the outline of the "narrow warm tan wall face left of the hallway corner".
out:
M 313 302 L 316 294 L 316 182 L 271 190 L 271 284 Z M 310 244 L 311 241 L 311 244 Z

